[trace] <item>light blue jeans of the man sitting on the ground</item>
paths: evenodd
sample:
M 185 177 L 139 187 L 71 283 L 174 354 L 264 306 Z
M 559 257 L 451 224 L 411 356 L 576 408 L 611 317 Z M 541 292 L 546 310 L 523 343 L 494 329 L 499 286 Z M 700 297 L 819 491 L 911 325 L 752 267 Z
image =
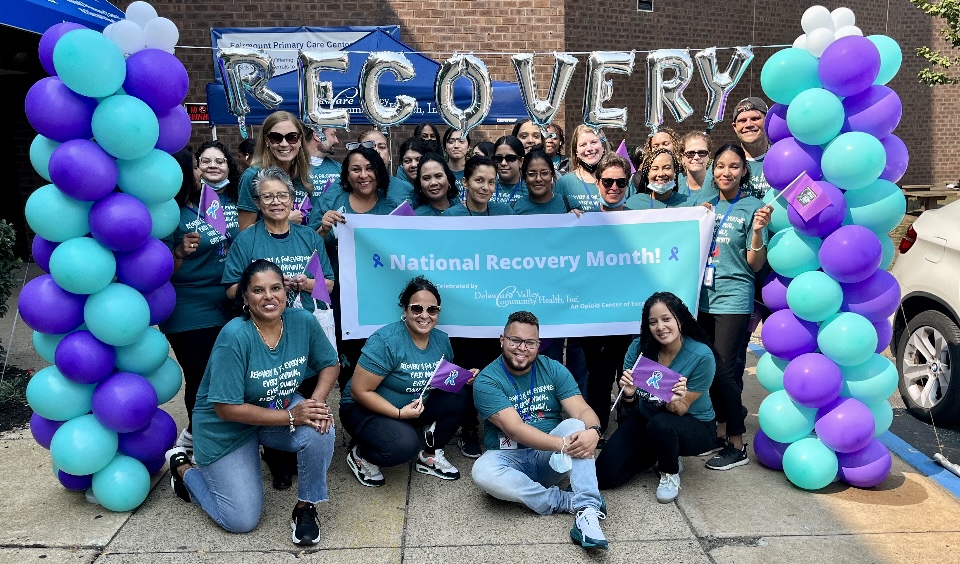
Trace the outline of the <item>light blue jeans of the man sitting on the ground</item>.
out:
M 566 419 L 550 434 L 566 437 L 583 431 L 583 421 Z M 488 450 L 473 465 L 473 481 L 480 489 L 497 499 L 522 503 L 541 515 L 573 513 L 584 507 L 600 509 L 600 489 L 592 458 L 574 458 L 573 469 L 565 474 L 550 467 L 546 450 Z M 570 477 L 572 492 L 562 491 L 557 484 Z

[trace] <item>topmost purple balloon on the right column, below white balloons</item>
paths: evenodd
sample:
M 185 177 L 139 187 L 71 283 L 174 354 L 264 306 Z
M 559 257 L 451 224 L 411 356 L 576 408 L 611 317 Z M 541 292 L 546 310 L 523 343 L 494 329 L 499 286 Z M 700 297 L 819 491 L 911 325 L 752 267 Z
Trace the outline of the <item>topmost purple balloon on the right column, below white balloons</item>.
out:
M 880 74 L 880 51 L 866 37 L 841 37 L 823 51 L 817 74 L 823 87 L 837 96 L 859 94 Z

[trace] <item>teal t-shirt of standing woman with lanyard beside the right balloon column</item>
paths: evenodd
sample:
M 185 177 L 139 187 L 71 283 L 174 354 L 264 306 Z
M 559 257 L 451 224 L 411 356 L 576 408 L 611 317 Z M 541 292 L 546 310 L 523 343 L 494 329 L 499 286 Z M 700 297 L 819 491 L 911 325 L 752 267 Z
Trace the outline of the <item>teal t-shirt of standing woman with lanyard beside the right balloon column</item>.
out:
M 717 246 L 713 251 L 713 287 L 700 287 L 700 311 L 707 313 L 753 313 L 753 269 L 747 263 L 747 245 L 753 237 L 753 214 L 763 202 L 744 193 L 733 208 L 730 202 L 715 198 Z M 726 221 L 721 220 L 730 210 Z M 764 230 L 764 240 L 767 232 Z

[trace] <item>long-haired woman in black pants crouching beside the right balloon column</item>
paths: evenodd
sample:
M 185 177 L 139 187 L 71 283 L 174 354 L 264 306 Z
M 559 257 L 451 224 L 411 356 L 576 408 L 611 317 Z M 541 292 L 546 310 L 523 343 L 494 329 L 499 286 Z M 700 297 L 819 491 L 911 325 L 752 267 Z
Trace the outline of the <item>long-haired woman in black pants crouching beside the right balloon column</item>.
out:
M 675 295 L 650 296 L 641 319 L 640 337 L 627 350 L 620 378 L 626 415 L 597 458 L 597 481 L 600 489 L 613 488 L 656 463 L 657 501 L 669 503 L 680 489 L 678 457 L 713 446 L 717 426 L 707 392 L 717 363 L 709 337 Z M 640 353 L 683 376 L 670 403 L 637 393 L 632 369 Z

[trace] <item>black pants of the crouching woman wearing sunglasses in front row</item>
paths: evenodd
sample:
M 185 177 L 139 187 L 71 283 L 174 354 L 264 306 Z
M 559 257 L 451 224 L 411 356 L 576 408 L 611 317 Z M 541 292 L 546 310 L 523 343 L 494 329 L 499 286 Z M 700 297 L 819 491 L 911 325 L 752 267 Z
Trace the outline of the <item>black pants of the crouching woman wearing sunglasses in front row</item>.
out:
M 420 427 L 436 422 L 433 445 L 426 445 L 426 449 L 445 447 L 460 426 L 467 393 L 466 387 L 455 394 L 431 390 L 424 398 L 423 413 L 416 419 L 393 419 L 358 403 L 348 403 L 340 406 L 340 422 L 358 446 L 361 458 L 389 468 L 417 456 L 421 449 Z

